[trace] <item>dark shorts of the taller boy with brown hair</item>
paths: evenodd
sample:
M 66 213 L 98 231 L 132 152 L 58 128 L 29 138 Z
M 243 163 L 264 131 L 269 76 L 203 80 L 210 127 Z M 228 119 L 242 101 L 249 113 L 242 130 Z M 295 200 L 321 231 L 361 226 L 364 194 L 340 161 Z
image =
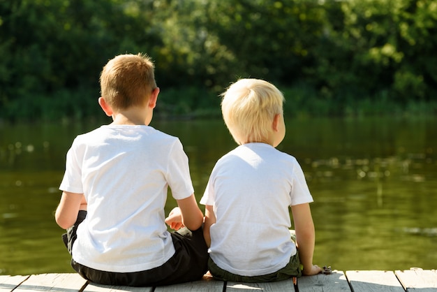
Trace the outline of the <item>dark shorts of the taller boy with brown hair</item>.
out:
M 79 211 L 76 223 L 62 236 L 71 254 L 76 240 L 77 226 L 85 219 L 87 211 Z M 175 254 L 160 267 L 139 272 L 105 272 L 88 268 L 71 259 L 71 266 L 84 279 L 113 286 L 163 286 L 201 279 L 208 270 L 208 248 L 202 228 L 190 231 L 182 228 L 172 232 Z

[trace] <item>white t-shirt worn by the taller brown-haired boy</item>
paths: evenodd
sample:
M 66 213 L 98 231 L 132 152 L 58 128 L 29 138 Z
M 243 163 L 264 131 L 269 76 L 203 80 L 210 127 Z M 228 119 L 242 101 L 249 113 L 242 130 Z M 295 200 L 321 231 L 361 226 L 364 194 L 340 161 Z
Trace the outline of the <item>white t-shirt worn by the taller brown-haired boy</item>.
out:
M 108 272 L 163 265 L 175 248 L 165 226 L 168 187 L 193 194 L 178 138 L 151 126 L 107 125 L 77 136 L 59 189 L 84 194 L 87 218 L 77 228 L 73 259 Z

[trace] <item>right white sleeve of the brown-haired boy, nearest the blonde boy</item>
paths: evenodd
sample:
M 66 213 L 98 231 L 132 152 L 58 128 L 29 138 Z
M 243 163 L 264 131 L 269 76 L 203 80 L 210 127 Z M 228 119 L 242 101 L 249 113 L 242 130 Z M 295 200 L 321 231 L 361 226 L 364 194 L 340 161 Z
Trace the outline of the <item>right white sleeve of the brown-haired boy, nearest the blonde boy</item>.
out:
M 194 193 L 188 166 L 188 156 L 186 156 L 179 139 L 176 140 L 172 149 L 170 149 L 166 178 L 175 200 L 188 198 Z

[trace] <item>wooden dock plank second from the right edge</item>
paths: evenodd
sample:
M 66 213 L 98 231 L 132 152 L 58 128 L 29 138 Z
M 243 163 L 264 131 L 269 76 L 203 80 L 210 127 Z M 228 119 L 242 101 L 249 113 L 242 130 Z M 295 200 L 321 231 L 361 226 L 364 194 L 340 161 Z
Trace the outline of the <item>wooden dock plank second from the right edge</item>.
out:
M 392 271 L 346 271 L 346 277 L 354 292 L 404 292 L 401 283 Z

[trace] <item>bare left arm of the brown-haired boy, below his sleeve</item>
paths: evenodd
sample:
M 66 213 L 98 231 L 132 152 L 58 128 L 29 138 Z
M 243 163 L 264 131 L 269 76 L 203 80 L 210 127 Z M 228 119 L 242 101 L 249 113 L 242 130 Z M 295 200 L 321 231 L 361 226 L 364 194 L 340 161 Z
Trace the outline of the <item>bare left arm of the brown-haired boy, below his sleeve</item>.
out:
M 87 210 L 87 200 L 84 194 L 62 192 L 61 201 L 54 214 L 56 223 L 61 228 L 70 228 L 75 224 L 79 210 Z

